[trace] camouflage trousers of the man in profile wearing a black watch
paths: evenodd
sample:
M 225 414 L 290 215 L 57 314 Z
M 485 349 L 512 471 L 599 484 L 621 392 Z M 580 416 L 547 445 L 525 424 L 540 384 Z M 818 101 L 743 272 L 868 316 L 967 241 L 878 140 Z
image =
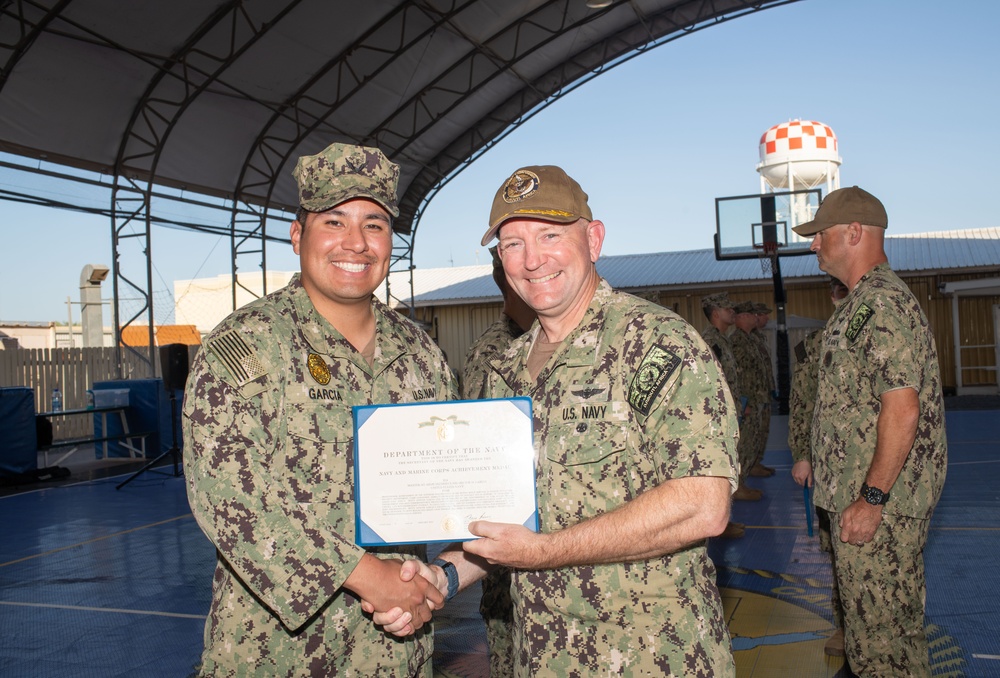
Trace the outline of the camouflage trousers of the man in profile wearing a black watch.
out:
M 862 678 L 931 675 L 924 632 L 929 523 L 883 514 L 874 539 L 859 547 L 840 541 L 840 514 L 830 513 L 844 649 L 851 670 Z

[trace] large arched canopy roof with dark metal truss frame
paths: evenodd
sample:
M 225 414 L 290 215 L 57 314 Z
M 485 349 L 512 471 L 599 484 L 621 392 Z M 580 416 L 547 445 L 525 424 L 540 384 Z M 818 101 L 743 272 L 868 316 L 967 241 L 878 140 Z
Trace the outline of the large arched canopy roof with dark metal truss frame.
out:
M 235 308 L 238 272 L 259 267 L 266 293 L 266 243 L 288 242 L 268 220 L 295 210 L 294 159 L 333 141 L 377 146 L 401 167 L 390 272 L 411 271 L 408 297 L 389 301 L 412 315 L 420 218 L 465 167 L 614 66 L 795 1 L 0 0 L 0 151 L 56 168 L 0 165 L 109 192 L 106 208 L 0 199 L 109 217 L 116 345 L 144 317 L 152 376 L 151 226 L 224 231 Z M 173 201 L 223 210 L 228 227 L 158 211 Z M 122 266 L 127 241 L 141 274 Z M 144 302 L 128 318 L 124 290 Z

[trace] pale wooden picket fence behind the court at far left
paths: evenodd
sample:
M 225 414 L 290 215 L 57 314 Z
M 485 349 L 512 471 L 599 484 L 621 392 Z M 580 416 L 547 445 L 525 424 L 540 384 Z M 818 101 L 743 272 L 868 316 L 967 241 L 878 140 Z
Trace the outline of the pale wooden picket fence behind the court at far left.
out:
M 198 346 L 189 347 L 189 361 Z M 121 378 L 150 376 L 148 348 L 123 350 Z M 159 351 L 154 351 L 153 374 L 160 375 Z M 35 391 L 35 411 L 52 409 L 52 389 L 59 387 L 63 409 L 87 406 L 87 390 L 97 381 L 119 378 L 114 348 L 15 348 L 0 350 L 0 386 L 27 386 Z M 71 438 L 93 433 L 91 417 L 53 420 L 53 436 Z

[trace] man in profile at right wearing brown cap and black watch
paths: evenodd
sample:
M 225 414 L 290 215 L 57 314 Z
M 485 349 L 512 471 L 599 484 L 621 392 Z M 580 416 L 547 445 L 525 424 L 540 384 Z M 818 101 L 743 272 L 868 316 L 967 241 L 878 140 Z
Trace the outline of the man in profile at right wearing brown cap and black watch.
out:
M 815 499 L 831 514 L 851 669 L 929 676 L 923 550 L 947 468 L 944 405 L 934 337 L 889 268 L 887 226 L 882 203 L 854 186 L 794 228 L 850 289 L 818 356 Z

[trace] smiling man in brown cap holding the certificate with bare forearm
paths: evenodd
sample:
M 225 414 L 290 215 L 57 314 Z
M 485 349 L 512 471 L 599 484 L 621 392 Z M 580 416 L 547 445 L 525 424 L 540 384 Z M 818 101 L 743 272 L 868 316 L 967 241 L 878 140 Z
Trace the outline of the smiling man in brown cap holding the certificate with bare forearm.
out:
M 482 538 L 442 554 L 455 584 L 482 577 L 468 554 L 515 568 L 517 676 L 733 676 L 705 546 L 737 480 L 719 363 L 679 316 L 597 275 L 604 224 L 560 168 L 505 181 L 483 244 L 498 230 L 539 322 L 491 362 L 486 395 L 532 399 L 541 532 L 470 523 Z

